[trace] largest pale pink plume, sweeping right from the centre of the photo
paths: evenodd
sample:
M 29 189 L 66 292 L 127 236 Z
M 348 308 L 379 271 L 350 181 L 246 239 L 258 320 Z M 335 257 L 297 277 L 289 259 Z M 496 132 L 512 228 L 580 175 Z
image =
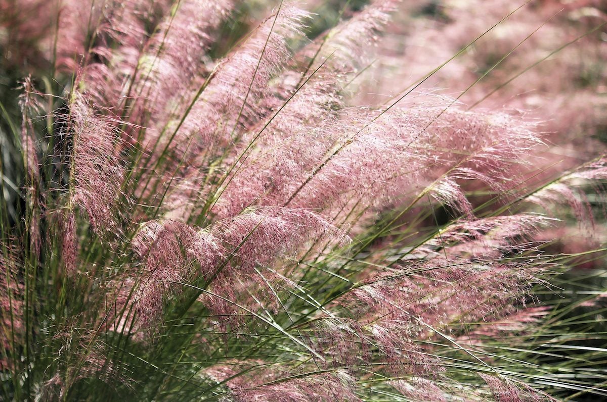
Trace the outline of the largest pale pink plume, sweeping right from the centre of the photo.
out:
M 512 179 L 504 169 L 523 162 L 521 150 L 540 140 L 531 124 L 506 114 L 447 106 L 414 102 L 379 117 L 378 112 L 345 109 L 314 122 L 316 127 L 305 122 L 287 126 L 289 136 L 283 134 L 282 141 L 263 137 L 263 149 L 222 189 L 214 211 L 229 216 L 253 202 L 339 210 L 351 199 L 381 207 L 424 191 L 472 215 L 461 181 L 508 189 Z M 271 136 L 273 125 L 268 128 Z

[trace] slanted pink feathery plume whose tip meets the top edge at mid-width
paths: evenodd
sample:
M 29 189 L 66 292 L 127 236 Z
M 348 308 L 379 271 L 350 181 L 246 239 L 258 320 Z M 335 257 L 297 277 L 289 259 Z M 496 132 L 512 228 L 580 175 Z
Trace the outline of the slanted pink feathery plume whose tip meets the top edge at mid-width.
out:
M 208 147 L 229 147 L 260 116 L 263 99 L 271 96 L 268 82 L 283 69 L 290 56 L 287 39 L 301 35 L 302 10 L 285 2 L 212 73 L 180 129 L 177 145 L 193 138 L 192 155 Z

